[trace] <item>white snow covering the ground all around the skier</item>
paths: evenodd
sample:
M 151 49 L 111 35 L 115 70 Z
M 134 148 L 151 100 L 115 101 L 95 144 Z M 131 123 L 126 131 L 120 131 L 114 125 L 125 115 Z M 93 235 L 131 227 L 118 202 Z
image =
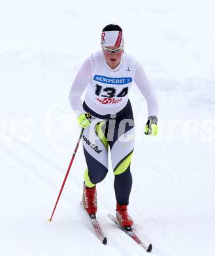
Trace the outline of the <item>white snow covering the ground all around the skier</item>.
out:
M 112 169 L 97 185 L 108 245 L 80 208 L 81 147 L 48 222 L 80 129 L 68 102 L 100 32 L 124 28 L 159 98 L 159 135 L 143 135 L 146 102 L 130 93 L 137 137 L 129 213 L 152 255 L 214 256 L 214 0 L 0 3 L 0 255 L 147 255 L 108 219 Z

